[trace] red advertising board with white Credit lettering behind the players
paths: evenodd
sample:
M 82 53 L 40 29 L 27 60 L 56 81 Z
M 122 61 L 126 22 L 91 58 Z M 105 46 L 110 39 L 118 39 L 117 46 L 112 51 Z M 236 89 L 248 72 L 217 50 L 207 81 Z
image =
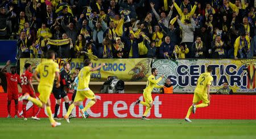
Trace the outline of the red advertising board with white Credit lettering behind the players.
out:
M 21 95 L 21 94 L 20 94 Z M 71 98 L 72 94 L 68 94 Z M 134 106 L 135 100 L 143 99 L 142 94 L 96 94 L 97 103 L 88 113 L 90 118 L 140 118 L 145 111 L 142 104 Z M 154 105 L 148 114 L 150 118 L 184 119 L 192 104 L 191 94 L 152 94 Z M 54 113 L 55 98 L 51 94 L 51 109 Z M 210 106 L 199 108 L 191 119 L 256 119 L 256 95 L 212 95 Z M 85 100 L 83 104 L 87 104 Z M 0 117 L 7 117 L 7 94 L 0 93 Z M 32 103 L 27 105 L 27 116 L 31 116 Z M 40 109 L 38 117 L 47 117 L 45 109 Z M 59 109 L 59 117 L 66 113 L 64 102 Z M 19 102 L 19 114 L 22 116 L 22 102 Z M 81 117 L 76 107 L 73 115 Z M 11 103 L 11 115 L 14 116 L 14 102 Z

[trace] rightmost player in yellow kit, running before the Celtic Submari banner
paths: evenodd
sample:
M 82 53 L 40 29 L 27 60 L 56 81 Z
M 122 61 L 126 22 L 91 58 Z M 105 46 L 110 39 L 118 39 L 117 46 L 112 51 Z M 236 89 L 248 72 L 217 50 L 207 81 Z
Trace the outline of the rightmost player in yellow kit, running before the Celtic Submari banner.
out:
M 191 111 L 193 113 L 196 113 L 196 108 L 203 108 L 208 107 L 210 105 L 210 85 L 212 85 L 212 67 L 207 67 L 207 72 L 202 73 L 197 80 L 196 89 L 194 91 L 193 96 L 193 104 L 188 109 L 187 116 L 185 117 L 185 121 L 191 122 L 189 119 L 189 115 L 191 114 Z M 202 100 L 203 103 L 197 104 Z

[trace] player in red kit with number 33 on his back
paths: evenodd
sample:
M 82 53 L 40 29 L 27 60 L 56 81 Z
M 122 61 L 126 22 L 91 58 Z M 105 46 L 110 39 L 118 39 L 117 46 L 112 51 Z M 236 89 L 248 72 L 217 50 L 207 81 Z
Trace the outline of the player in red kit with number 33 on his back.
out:
M 33 74 L 31 73 L 32 71 L 32 66 L 31 64 L 29 63 L 26 63 L 24 65 L 24 72 L 23 74 L 20 76 L 20 84 L 22 85 L 22 93 L 25 94 L 26 92 L 28 94 L 30 94 L 30 96 L 32 96 L 33 98 L 36 98 L 36 95 L 35 95 L 35 89 L 32 85 L 32 76 Z M 27 103 L 28 103 L 28 100 L 23 100 L 23 105 L 22 105 L 22 111 L 23 111 L 23 116 L 24 116 L 24 120 L 27 120 Z M 34 120 L 40 120 L 38 117 L 36 117 L 36 106 L 33 105 L 32 106 L 32 117 L 31 119 L 34 119 Z

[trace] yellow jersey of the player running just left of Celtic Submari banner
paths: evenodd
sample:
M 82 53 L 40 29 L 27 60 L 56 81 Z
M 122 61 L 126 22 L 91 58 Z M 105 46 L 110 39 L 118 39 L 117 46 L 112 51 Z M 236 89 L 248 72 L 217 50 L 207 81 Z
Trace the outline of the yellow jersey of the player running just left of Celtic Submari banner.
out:
M 158 82 L 160 82 L 161 80 L 162 80 L 162 77 L 159 77 L 158 79 L 155 79 L 154 75 L 150 75 L 147 78 L 147 87 L 143 91 L 146 92 L 146 93 L 150 93 L 151 94 L 151 92 L 152 92 L 152 90 L 154 88 L 158 88 L 158 89 L 162 88 L 163 86 L 157 85 Z

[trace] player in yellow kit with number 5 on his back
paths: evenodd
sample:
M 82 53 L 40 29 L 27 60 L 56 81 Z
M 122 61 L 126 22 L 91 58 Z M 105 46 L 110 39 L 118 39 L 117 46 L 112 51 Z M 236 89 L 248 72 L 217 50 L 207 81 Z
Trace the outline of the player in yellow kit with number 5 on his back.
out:
M 61 125 L 61 123 L 56 122 L 52 117 L 51 111 L 51 102 L 49 100 L 49 96 L 52 92 L 53 81 L 56 78 L 56 87 L 60 87 L 60 75 L 59 75 L 59 65 L 54 62 L 55 60 L 55 52 L 49 50 L 46 54 L 47 60 L 42 61 L 35 69 L 34 78 L 39 82 L 38 91 L 39 91 L 39 100 L 32 98 L 28 93 L 24 94 L 19 98 L 21 100 L 30 100 L 32 103 L 36 104 L 36 106 L 43 108 L 46 106 L 46 111 L 49 117 L 49 121 L 51 122 L 52 127 L 57 127 Z M 38 74 L 40 74 L 40 79 L 38 78 Z

